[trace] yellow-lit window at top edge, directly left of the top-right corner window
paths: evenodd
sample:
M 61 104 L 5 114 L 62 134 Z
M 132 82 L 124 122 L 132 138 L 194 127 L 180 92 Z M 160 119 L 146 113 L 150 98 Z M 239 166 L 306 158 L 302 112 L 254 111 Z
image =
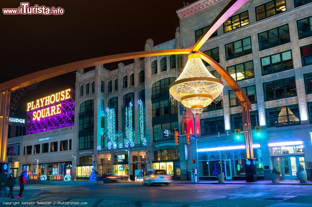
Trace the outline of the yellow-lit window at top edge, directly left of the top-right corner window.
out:
M 274 0 L 256 7 L 256 19 L 259 21 L 285 11 L 285 0 Z

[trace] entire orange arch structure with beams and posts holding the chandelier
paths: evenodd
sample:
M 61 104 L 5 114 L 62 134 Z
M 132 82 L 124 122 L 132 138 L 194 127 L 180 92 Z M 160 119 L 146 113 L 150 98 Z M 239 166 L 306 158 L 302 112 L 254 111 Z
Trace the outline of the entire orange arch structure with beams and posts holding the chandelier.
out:
M 220 27 L 223 22 L 225 22 L 229 17 L 234 14 L 241 6 L 243 6 L 248 0 L 231 0 L 226 7 L 219 13 L 219 15 L 213 20 L 207 30 L 202 34 L 193 48 L 190 49 L 170 49 L 170 50 L 156 50 L 156 51 L 141 51 L 141 52 L 132 52 L 132 53 L 123 53 L 118 55 L 108 55 L 104 57 L 92 58 L 88 60 L 77 61 L 74 63 L 69 63 L 65 65 L 56 66 L 46 70 L 41 70 L 32 74 L 24 75 L 22 77 L 4 82 L 0 84 L 0 91 L 16 90 L 18 85 L 25 85 L 30 81 L 42 81 L 49 79 L 58 75 L 62 75 L 71 71 L 79 70 L 80 68 L 87 68 L 94 65 L 101 65 L 110 62 L 116 62 L 127 59 L 141 58 L 141 57 L 150 57 L 150 56 L 160 56 L 160 55 L 174 55 L 174 54 L 191 54 L 198 53 L 201 55 L 201 58 L 205 60 L 209 65 L 211 65 L 217 72 L 225 79 L 227 84 L 231 87 L 236 97 L 241 103 L 242 114 L 243 114 L 243 123 L 244 130 L 250 130 L 250 114 L 251 103 L 247 98 L 246 94 L 243 92 L 241 87 L 236 83 L 231 75 L 216 61 L 212 60 L 211 57 L 205 55 L 199 51 L 200 47 L 207 41 L 207 39 Z M 8 103 L 1 103 L 0 109 L 3 109 L 7 106 Z M 2 114 L 0 114 L 2 115 Z M 0 116 L 1 118 L 1 116 Z M 3 117 L 2 117 L 3 119 Z M 3 120 L 0 120 L 1 130 L 1 151 L 0 157 L 5 157 L 6 152 L 6 139 L 7 139 L 7 123 Z M 114 131 L 115 133 L 115 131 Z M 246 145 L 246 158 L 253 158 L 252 150 L 252 140 L 251 132 L 245 133 L 245 145 Z M 5 141 L 4 141 L 5 140 Z M 117 146 L 116 146 L 117 147 Z M 3 156 L 4 155 L 4 156 Z

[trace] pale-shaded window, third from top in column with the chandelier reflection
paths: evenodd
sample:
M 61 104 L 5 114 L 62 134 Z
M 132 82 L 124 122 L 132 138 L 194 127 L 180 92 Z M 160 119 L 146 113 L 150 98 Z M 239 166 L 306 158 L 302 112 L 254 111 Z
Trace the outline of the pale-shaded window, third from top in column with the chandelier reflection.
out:
M 293 69 L 291 51 L 280 52 L 261 58 L 262 75 Z

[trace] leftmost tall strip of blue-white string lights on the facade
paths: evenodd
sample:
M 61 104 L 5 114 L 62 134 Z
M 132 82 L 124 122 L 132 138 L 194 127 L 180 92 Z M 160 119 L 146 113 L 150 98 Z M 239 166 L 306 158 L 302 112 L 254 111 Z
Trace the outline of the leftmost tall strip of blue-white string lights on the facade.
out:
M 117 139 L 116 139 L 116 117 L 114 108 L 106 108 L 107 112 L 107 146 L 109 149 L 117 148 Z

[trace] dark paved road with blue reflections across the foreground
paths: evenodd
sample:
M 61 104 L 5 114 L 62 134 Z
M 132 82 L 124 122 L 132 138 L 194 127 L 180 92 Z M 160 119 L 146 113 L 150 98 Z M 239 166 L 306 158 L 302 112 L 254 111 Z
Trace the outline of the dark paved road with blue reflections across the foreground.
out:
M 5 202 L 43 202 L 44 206 L 272 206 L 312 207 L 312 185 L 204 185 L 141 184 L 104 185 L 28 185 L 26 190 L 40 189 L 41 195 Z M 44 203 L 51 202 L 51 203 Z M 69 203 L 58 203 L 69 202 Z M 70 202 L 80 202 L 73 204 Z M 82 202 L 86 202 L 82 204 Z M 5 205 L 2 205 L 5 206 Z M 11 205 L 12 206 L 12 205 Z M 14 205 L 14 206 L 33 206 Z

